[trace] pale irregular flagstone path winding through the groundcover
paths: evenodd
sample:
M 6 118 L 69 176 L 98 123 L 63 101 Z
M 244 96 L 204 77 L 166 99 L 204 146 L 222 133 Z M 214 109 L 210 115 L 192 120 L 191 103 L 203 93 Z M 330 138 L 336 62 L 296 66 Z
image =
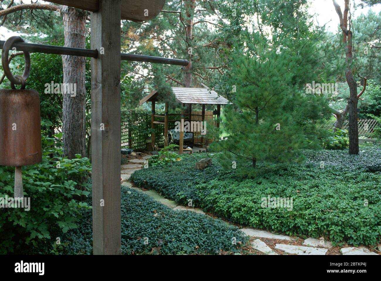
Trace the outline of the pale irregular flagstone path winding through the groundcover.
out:
M 184 206 L 178 205 L 176 202 L 162 197 L 157 191 L 154 191 L 154 190 L 144 191 L 143 189 L 140 189 L 138 187 L 133 187 L 132 184 L 128 182 L 131 174 L 134 171 L 142 169 L 143 165 L 146 163 L 147 159 L 149 159 L 150 157 L 151 156 L 147 155 L 142 157 L 143 159 L 130 159 L 128 160 L 128 164 L 121 165 L 120 176 L 123 179 L 122 185 L 130 187 L 139 192 L 144 192 L 145 194 L 154 198 L 154 200 L 162 203 L 165 206 L 168 206 L 169 208 L 172 208 L 175 211 L 192 211 L 195 213 L 205 214 L 199 208 L 184 207 Z M 228 222 L 226 223 L 229 224 Z M 241 230 L 243 233 L 245 233 L 245 235 L 256 238 L 255 240 L 251 242 L 251 245 L 253 246 L 254 249 L 267 255 L 278 255 L 278 253 L 275 252 L 272 248 L 270 248 L 262 240 L 265 240 L 267 243 L 271 242 L 273 244 L 275 244 L 276 242 L 274 249 L 278 250 L 279 252 L 283 252 L 285 254 L 325 255 L 328 249 L 331 249 L 333 247 L 331 242 L 324 241 L 324 240 L 322 241 L 315 238 L 307 238 L 306 240 L 304 240 L 303 246 L 291 245 L 291 244 L 280 244 L 279 240 L 284 240 L 285 242 L 290 243 L 295 241 L 295 239 L 292 239 L 291 237 L 287 235 L 271 233 L 267 230 L 253 229 L 251 227 L 246 227 Z M 274 240 L 275 242 L 271 240 Z M 272 245 L 271 243 L 269 243 L 270 246 Z M 340 252 L 343 255 L 378 255 L 375 252 L 371 252 L 367 248 L 363 248 L 363 247 L 341 248 Z

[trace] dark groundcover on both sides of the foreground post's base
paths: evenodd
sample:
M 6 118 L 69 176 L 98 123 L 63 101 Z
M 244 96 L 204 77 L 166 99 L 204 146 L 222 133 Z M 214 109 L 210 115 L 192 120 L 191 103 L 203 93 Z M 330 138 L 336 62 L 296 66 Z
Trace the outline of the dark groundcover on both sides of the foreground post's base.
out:
M 247 238 L 234 226 L 191 211 L 174 211 L 142 192 L 122 186 L 123 254 L 225 254 L 242 252 Z M 91 202 L 88 202 L 91 205 Z M 29 254 L 92 254 L 92 210 L 81 209 L 78 228 L 61 244 L 40 243 Z

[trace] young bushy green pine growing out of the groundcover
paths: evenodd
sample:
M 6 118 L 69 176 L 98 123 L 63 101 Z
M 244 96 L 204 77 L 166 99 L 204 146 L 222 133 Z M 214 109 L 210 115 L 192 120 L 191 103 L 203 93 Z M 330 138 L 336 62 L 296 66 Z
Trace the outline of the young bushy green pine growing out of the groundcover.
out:
M 262 161 L 300 160 L 298 149 L 307 145 L 307 136 L 316 139 L 315 123 L 325 113 L 327 100 L 303 90 L 303 82 L 311 77 L 304 77 L 304 56 L 288 48 L 269 49 L 269 41 L 259 33 L 247 33 L 246 42 L 243 51 L 232 54 L 230 84 L 236 93 L 234 105 L 225 107 L 223 122 L 230 135 L 211 149 L 222 152 L 227 162 L 247 161 L 253 168 Z M 314 48 L 310 43 L 304 47 Z

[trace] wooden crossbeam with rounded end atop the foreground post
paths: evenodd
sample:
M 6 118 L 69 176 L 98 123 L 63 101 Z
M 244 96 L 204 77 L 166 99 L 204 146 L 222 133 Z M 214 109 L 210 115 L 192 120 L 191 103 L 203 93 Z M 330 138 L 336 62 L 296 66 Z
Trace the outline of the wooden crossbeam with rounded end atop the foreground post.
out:
M 50 0 L 86 11 L 97 12 L 100 0 Z M 121 19 L 130 21 L 148 21 L 156 17 L 163 9 L 165 0 L 122 0 Z

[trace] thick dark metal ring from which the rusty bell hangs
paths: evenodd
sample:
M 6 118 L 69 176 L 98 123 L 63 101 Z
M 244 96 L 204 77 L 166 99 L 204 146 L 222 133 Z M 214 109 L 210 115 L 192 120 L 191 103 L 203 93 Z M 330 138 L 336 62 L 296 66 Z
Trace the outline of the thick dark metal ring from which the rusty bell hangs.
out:
M 14 84 L 21 85 L 21 89 L 25 89 L 25 81 L 28 79 L 29 72 L 30 72 L 30 55 L 29 52 L 24 51 L 24 59 L 25 59 L 25 69 L 24 73 L 22 73 L 22 76 L 20 75 L 12 75 L 11 70 L 9 68 L 9 51 L 12 48 L 14 43 L 22 42 L 24 43 L 24 40 L 22 40 L 19 36 L 12 36 L 8 38 L 8 40 L 5 41 L 3 50 L 2 50 L 2 64 L 3 64 L 3 70 L 5 76 L 8 78 L 8 80 L 11 82 L 12 89 L 14 88 Z M 12 86 L 13 85 L 13 86 Z

